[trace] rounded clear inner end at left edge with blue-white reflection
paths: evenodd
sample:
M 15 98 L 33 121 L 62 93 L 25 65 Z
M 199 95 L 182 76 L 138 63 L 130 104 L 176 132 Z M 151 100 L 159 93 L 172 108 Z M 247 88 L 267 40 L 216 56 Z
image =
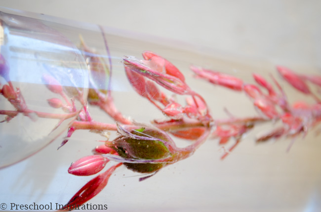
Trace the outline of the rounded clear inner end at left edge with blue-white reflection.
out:
M 88 71 L 74 43 L 45 22 L 1 12 L 0 36 L 1 84 L 17 91 L 16 98 L 1 96 L 1 110 L 21 112 L 1 116 L 1 121 L 9 119 L 0 128 L 3 167 L 39 151 L 75 120 L 86 101 Z M 48 105 L 47 99 L 59 96 L 74 108 Z M 46 118 L 50 113 L 56 117 Z

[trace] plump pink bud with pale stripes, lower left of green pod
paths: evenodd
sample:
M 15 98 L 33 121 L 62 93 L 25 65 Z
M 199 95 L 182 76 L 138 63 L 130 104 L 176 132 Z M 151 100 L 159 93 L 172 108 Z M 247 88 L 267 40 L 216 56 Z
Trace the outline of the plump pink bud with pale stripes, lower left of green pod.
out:
M 100 172 L 109 160 L 101 155 L 82 157 L 73 162 L 68 173 L 77 176 L 89 176 Z

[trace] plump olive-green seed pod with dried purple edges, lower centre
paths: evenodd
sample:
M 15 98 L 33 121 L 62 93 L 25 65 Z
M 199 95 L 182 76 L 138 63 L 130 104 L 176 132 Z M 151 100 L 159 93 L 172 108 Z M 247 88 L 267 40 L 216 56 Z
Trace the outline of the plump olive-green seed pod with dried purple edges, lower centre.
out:
M 123 164 L 132 171 L 155 172 L 165 166 L 166 159 L 170 160 L 175 152 L 173 141 L 159 129 L 140 128 L 127 131 L 119 126 L 119 132 L 121 135 L 113 142 L 107 142 L 107 146 L 117 151 L 125 161 L 131 161 Z M 157 162 L 159 159 L 164 160 Z

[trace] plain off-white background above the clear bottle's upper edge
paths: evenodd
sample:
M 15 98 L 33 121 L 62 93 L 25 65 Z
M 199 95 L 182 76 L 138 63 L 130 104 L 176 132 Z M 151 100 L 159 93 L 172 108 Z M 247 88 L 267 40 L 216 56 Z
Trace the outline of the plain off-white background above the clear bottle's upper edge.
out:
M 320 0 L 0 0 L 0 5 L 283 65 L 321 66 Z

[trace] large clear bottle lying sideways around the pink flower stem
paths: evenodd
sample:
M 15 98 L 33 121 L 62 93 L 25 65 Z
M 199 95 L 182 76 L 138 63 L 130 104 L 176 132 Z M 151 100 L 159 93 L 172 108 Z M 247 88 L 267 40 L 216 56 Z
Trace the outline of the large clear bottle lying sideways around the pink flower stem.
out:
M 186 84 L 206 100 L 214 121 L 231 116 L 254 117 L 258 113 L 244 92 L 196 79 L 190 70 L 191 64 L 236 76 L 249 84 L 255 84 L 252 73 L 260 74 L 273 83 L 272 74 L 280 82 L 289 103 L 298 100 L 308 104 L 315 102 L 311 95 L 296 91 L 282 80 L 275 68 L 277 64 L 268 60 L 201 52 L 195 47 L 161 38 L 41 14 L 1 10 L 0 53 L 9 66 L 13 88 L 19 88 L 29 110 L 63 116 L 69 114 L 68 119 L 59 122 L 61 119 L 44 115 L 43 118 L 39 113 L 19 113 L 9 122 L 0 123 L 0 166 L 8 166 L 0 170 L 0 197 L 7 210 L 10 210 L 10 203 L 51 203 L 54 211 L 56 203 L 66 204 L 82 185 L 93 178 L 73 176 L 67 170 L 73 161 L 90 155 L 95 146 L 102 144 L 100 140 L 106 138 L 88 130 L 77 130 L 57 151 L 66 130 L 86 102 L 88 90 L 92 89 L 92 73 L 86 61 L 88 55 L 81 51 L 83 44 L 105 61 L 108 70 L 112 71 L 112 74 L 106 74 L 106 80 L 102 80 L 99 89 L 109 88 L 117 110 L 123 117 L 138 123 L 166 120 L 160 110 L 134 91 L 124 72 L 123 57 L 134 56 L 142 60 L 141 54 L 146 50 L 161 55 L 184 74 Z M 318 68 L 313 66 L 291 68 L 298 73 L 320 75 Z M 44 75 L 61 84 L 69 103 L 75 102 L 75 110 L 63 111 L 48 105 L 47 99 L 64 98 L 61 93 L 53 92 L 50 86 L 48 88 Z M 6 85 L 4 77 L 1 77 L 1 86 Z M 309 86 L 318 93 L 317 87 Z M 277 90 L 275 84 L 274 87 Z M 164 92 L 172 95 L 169 91 Z M 172 96 L 180 103 L 184 102 L 184 97 Z M 17 111 L 17 108 L 0 95 L 0 110 Z M 97 106 L 89 105 L 89 111 L 95 121 L 116 123 Z M 0 118 L 5 119 L 5 116 L 0 115 Z M 220 160 L 224 148 L 218 144 L 218 139 L 208 139 L 192 156 L 166 166 L 142 182 L 139 178 L 146 175 L 121 166 L 113 173 L 105 189 L 88 204 L 108 205 L 109 211 L 317 212 L 321 210 L 318 130 L 309 129 L 304 137 L 255 143 L 261 132 L 278 124 L 280 121 L 255 124 L 224 160 Z M 110 140 L 116 136 L 111 132 Z M 191 144 L 188 140 L 172 138 L 178 147 Z M 287 151 L 293 140 L 294 144 Z M 232 138 L 225 145 L 226 149 L 234 142 Z M 113 164 L 115 162 L 110 162 L 107 166 Z

